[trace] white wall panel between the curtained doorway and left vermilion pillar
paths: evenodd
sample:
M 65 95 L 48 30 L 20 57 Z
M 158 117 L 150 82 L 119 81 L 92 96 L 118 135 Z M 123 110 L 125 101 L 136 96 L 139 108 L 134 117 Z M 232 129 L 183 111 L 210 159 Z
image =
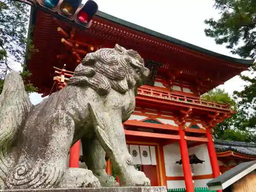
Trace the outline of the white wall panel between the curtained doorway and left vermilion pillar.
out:
M 181 159 L 179 143 L 163 146 L 165 172 L 168 177 L 183 176 L 182 165 L 176 164 Z

